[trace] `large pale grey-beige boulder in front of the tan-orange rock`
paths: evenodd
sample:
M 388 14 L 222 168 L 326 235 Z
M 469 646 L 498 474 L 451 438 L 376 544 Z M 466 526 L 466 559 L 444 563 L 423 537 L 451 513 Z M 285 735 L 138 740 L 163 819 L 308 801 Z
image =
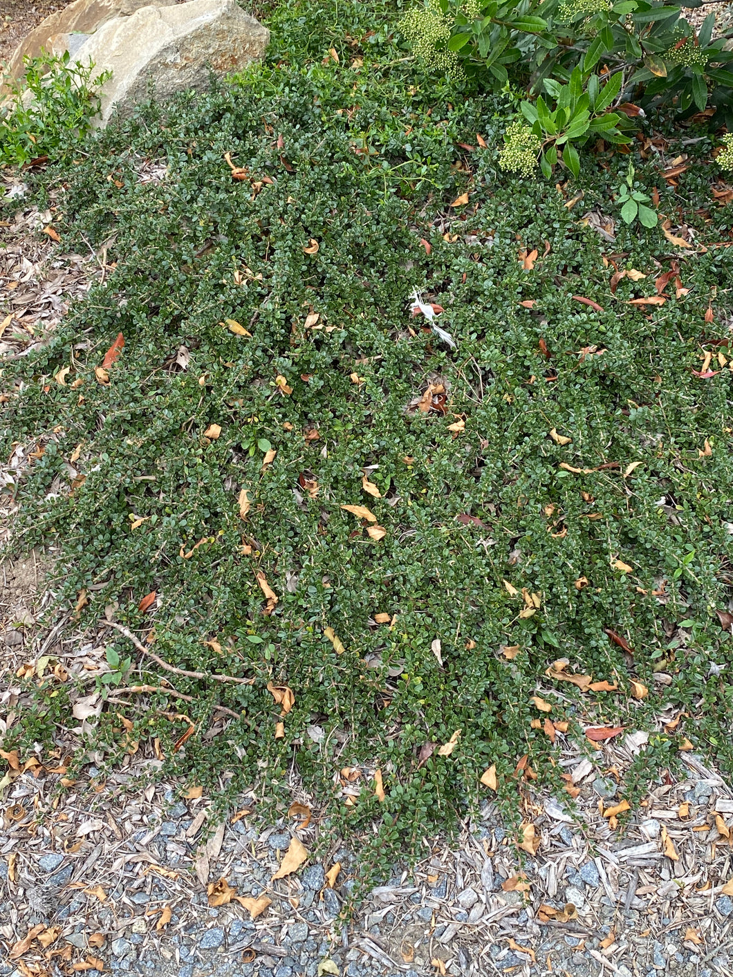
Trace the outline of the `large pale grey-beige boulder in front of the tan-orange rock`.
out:
M 207 91 L 210 71 L 223 75 L 262 58 L 270 31 L 237 0 L 189 0 L 173 7 L 143 7 L 103 23 L 74 53 L 95 73 L 110 70 L 97 124 L 106 125 L 148 99 L 160 101 L 189 89 Z

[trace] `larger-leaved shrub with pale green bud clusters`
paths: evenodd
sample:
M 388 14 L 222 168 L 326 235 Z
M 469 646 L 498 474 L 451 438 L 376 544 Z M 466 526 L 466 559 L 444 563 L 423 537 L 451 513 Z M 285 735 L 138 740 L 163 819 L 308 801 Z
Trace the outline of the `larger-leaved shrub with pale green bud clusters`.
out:
M 577 174 L 577 150 L 589 140 L 630 142 L 636 123 L 614 111 L 624 103 L 642 110 L 637 118 L 650 109 L 686 118 L 711 106 L 703 121 L 733 130 L 733 28 L 713 40 L 714 14 L 696 30 L 682 2 L 427 0 L 402 30 L 428 68 L 462 66 L 482 85 L 528 93 L 529 125 L 507 129 L 502 169 L 527 174 L 539 158 L 550 176 L 562 159 Z

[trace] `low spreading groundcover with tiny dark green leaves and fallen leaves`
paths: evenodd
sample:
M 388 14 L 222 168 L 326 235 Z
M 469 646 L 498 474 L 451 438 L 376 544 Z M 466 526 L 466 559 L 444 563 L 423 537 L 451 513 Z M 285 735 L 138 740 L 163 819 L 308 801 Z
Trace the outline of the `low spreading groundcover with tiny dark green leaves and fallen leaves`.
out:
M 559 785 L 545 715 L 585 743 L 589 724 L 654 732 L 668 706 L 629 796 L 685 738 L 730 769 L 733 258 L 712 246 L 731 221 L 711 143 L 676 189 L 636 159 L 694 246 L 621 223 L 608 242 L 566 203 L 613 209 L 625 155 L 582 187 L 514 179 L 501 103 L 405 63 L 394 10 L 278 16 L 269 64 L 148 106 L 59 172 L 60 233 L 116 268 L 3 366 L 3 449 L 44 449 L 19 550 L 63 548 L 82 625 L 108 609 L 180 668 L 253 680 L 165 676 L 105 627 L 122 684 L 170 678 L 195 732 L 174 750 L 186 724 L 159 692 L 110 703 L 90 749 L 155 736 L 170 771 L 263 800 L 296 776 L 334 825 L 378 826 L 382 860 L 490 793 L 493 765 L 504 797 Z M 415 289 L 455 349 L 410 319 Z M 5 748 L 71 721 L 67 685 L 32 690 Z M 206 738 L 217 702 L 241 718 Z

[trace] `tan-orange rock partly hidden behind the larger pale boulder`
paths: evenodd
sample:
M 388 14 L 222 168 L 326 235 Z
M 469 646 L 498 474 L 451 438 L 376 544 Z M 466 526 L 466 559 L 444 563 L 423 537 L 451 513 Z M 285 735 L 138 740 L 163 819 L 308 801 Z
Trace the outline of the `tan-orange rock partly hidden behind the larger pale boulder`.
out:
M 129 17 L 141 7 L 169 7 L 176 0 L 75 0 L 74 3 L 41 21 L 27 34 L 8 62 L 14 78 L 23 74 L 23 57 L 37 58 L 41 48 L 64 50 L 69 34 L 92 34 L 112 18 Z M 59 52 L 61 53 L 61 51 Z

